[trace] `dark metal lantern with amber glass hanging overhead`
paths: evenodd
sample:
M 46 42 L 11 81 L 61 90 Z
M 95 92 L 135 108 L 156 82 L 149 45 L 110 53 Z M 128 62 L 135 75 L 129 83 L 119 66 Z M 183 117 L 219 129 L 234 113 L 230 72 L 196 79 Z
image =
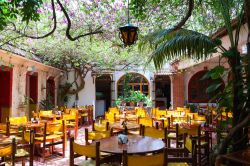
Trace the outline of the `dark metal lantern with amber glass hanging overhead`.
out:
M 129 23 L 129 0 L 128 0 L 128 24 L 122 27 L 119 27 L 120 30 L 120 39 L 125 46 L 130 46 L 136 42 L 138 39 L 138 27 Z

